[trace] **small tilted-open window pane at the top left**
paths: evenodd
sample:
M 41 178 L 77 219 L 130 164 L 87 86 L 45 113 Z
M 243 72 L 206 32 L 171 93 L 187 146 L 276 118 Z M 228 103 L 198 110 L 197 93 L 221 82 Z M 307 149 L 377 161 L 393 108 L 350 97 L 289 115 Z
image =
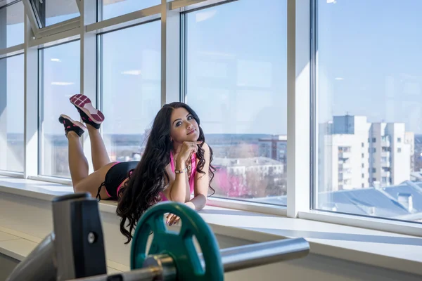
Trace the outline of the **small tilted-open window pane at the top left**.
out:
M 39 28 L 79 17 L 75 0 L 30 0 Z

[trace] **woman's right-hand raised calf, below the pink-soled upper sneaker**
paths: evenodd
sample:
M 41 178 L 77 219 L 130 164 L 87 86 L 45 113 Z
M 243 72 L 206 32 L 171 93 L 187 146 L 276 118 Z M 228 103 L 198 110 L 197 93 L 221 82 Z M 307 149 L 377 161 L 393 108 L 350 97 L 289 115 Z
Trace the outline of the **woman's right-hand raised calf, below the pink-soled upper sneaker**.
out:
M 98 129 L 95 129 L 89 124 L 87 124 L 87 128 L 89 139 L 91 140 L 92 165 L 94 166 L 94 171 L 98 171 L 102 166 L 110 163 L 110 157 L 108 157 L 106 145 L 104 145 L 103 138 Z

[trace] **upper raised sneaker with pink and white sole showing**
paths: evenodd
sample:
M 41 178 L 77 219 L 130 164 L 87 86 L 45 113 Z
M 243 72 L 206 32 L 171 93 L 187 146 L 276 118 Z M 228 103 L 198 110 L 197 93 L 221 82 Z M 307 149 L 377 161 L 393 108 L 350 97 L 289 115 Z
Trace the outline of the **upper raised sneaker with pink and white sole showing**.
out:
M 104 121 L 103 112 L 97 110 L 91 103 L 91 100 L 84 95 L 74 95 L 70 97 L 70 103 L 75 105 L 82 121 L 96 129 L 100 129 L 101 123 Z

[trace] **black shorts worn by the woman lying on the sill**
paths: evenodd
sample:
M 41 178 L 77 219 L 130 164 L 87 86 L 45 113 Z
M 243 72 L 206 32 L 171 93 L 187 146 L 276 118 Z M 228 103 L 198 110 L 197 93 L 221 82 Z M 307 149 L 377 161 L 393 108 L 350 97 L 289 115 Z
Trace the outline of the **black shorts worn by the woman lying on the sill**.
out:
M 129 176 L 129 171 L 135 169 L 139 161 L 120 162 L 113 165 L 106 174 L 106 179 L 98 188 L 97 198 L 101 200 L 100 190 L 105 187 L 110 199 L 117 200 L 117 188 Z

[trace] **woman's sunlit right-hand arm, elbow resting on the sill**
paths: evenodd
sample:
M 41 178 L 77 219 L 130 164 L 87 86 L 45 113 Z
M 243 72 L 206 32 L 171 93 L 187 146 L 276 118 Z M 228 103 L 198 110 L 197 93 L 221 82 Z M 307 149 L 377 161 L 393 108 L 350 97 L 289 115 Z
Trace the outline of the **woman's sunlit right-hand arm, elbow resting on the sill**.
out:
M 205 174 L 200 174 L 196 172 L 195 174 L 195 188 L 194 188 L 194 195 L 195 197 L 192 198 L 191 201 L 186 202 L 186 205 L 188 207 L 191 207 L 192 209 L 199 211 L 205 207 L 207 204 L 207 194 L 208 194 L 208 188 L 210 186 L 210 147 L 204 143 L 203 145 L 204 152 L 204 159 L 205 164 L 203 167 L 203 171 Z

